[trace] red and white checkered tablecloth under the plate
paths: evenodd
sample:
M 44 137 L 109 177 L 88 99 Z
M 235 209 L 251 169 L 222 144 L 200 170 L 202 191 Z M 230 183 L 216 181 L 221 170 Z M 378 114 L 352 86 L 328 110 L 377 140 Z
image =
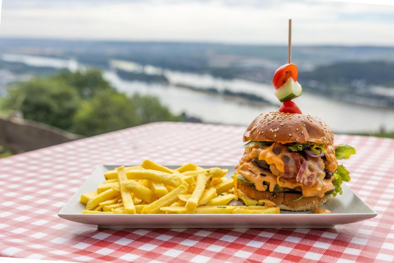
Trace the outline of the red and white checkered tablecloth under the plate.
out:
M 394 261 L 394 140 L 336 135 L 378 216 L 332 229 L 98 229 L 59 210 L 100 164 L 234 165 L 244 127 L 152 123 L 0 159 L 0 256 L 87 262 Z

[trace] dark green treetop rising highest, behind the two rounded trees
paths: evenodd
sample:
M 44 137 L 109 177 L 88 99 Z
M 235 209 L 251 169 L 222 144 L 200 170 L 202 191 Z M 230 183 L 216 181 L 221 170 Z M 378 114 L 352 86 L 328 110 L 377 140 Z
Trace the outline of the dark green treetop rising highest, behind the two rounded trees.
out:
M 102 76 L 101 69 L 86 69 L 71 72 L 68 70 L 59 71 L 52 76 L 55 80 L 61 80 L 70 86 L 75 87 L 83 99 L 89 99 L 97 91 L 113 90 L 114 88 Z

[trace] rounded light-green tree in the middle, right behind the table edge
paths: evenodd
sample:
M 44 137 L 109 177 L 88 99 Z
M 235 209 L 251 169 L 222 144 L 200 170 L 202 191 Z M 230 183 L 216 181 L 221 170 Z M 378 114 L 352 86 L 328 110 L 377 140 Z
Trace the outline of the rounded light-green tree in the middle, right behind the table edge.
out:
M 84 101 L 73 118 L 72 132 L 93 136 L 141 124 L 130 99 L 116 91 L 98 91 Z

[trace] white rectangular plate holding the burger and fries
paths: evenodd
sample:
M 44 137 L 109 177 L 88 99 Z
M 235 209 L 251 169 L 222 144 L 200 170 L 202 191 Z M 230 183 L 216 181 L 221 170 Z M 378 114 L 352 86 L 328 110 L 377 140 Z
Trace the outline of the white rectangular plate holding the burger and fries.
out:
M 330 197 L 321 208 L 332 214 L 310 214 L 310 211 L 292 212 L 281 210 L 271 215 L 95 215 L 82 214 L 85 205 L 79 202 L 81 194 L 94 192 L 104 181 L 104 172 L 121 165 L 103 165 L 87 178 L 71 200 L 61 209 L 59 217 L 74 222 L 98 225 L 100 228 L 331 228 L 375 217 L 376 212 L 362 201 L 349 187 L 342 185 L 343 194 Z M 130 165 L 132 166 L 132 165 Z M 167 166 L 175 169 L 179 166 Z M 212 166 L 215 167 L 215 166 Z M 232 166 L 226 177 L 234 174 Z

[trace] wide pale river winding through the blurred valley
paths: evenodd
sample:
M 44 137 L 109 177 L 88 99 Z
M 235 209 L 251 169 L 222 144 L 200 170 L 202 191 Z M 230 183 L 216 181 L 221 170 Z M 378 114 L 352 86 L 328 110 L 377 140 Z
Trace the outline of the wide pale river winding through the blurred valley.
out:
M 84 68 L 84 65 L 74 59 L 63 60 L 41 56 L 2 54 L 0 60 L 22 62 L 33 67 L 45 66 L 70 70 Z M 273 87 L 268 84 L 242 79 L 223 80 L 208 74 L 184 73 L 153 66 L 144 67 L 133 62 L 119 60 L 112 60 L 111 65 L 113 68 L 132 72 L 164 75 L 169 80 L 169 84 L 125 80 L 120 78 L 113 69 L 104 70 L 104 77 L 117 90 L 128 94 L 138 92 L 156 95 L 173 113 L 186 112 L 189 116 L 201 118 L 208 123 L 249 125 L 258 114 L 277 110 L 278 107 L 265 104 L 259 106 L 257 103 L 240 103 L 221 96 L 180 88 L 177 84 L 197 88 L 216 88 L 219 91 L 224 89 L 235 92 L 242 91 L 259 95 L 267 101 L 279 104 L 273 95 Z M 393 109 L 351 104 L 307 92 L 295 99 L 295 102 L 304 114 L 319 116 L 335 132 L 378 132 L 381 128 L 386 131 L 394 130 Z

